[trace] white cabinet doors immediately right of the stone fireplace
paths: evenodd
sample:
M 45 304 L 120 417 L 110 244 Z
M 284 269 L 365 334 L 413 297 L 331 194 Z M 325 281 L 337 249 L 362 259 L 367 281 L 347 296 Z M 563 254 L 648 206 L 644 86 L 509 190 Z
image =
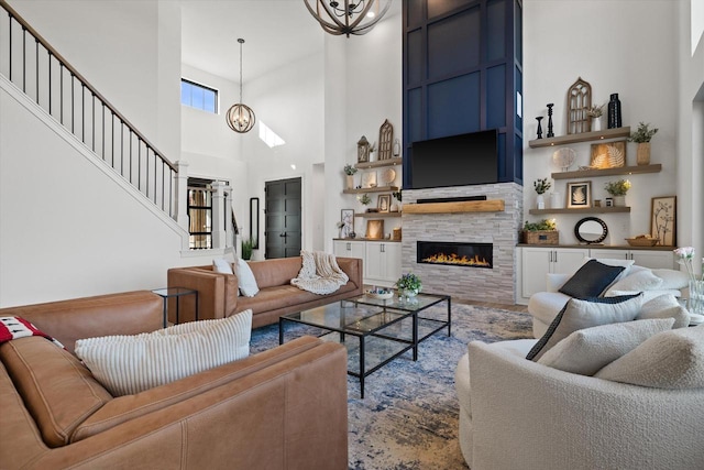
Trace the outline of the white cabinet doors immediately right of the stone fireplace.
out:
M 521 247 L 519 293 L 530 298 L 546 289 L 548 273 L 572 273 L 590 255 L 588 249 Z

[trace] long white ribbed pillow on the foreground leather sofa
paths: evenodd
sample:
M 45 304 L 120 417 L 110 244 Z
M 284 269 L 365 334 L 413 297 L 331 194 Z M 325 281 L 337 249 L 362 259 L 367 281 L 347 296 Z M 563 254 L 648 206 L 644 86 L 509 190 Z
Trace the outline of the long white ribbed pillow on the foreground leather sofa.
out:
M 75 352 L 113 396 L 130 395 L 250 354 L 252 310 L 136 336 L 79 339 Z

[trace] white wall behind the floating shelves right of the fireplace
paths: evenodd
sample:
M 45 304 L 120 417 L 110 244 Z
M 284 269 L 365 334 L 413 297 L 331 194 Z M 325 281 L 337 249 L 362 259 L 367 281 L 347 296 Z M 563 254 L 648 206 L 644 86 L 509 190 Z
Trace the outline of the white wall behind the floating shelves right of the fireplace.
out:
M 588 0 L 524 1 L 524 182 L 525 207 L 535 207 L 532 182 L 560 171 L 552 163 L 554 149 L 530 149 L 536 139 L 535 117 L 543 116 L 546 103 L 554 102 L 556 135 L 565 134 L 568 88 L 578 79 L 592 86 L 593 102 L 603 103 L 609 94 L 619 95 L 624 125 L 631 130 L 639 121 L 659 128 L 652 139 L 651 163 L 661 163 L 662 172 L 629 177 L 632 188 L 626 204 L 630 215 L 600 215 L 608 226 L 606 244 L 624 244 L 624 238 L 650 232 L 650 201 L 653 196 L 678 193 L 678 48 L 673 34 L 676 11 L 671 0 L 652 0 L 642 8 L 634 2 Z M 593 33 L 592 33 L 593 32 Z M 579 165 L 588 165 L 590 143 L 571 144 Z M 635 165 L 636 144 L 627 145 L 627 164 Z M 593 198 L 608 195 L 604 184 L 618 177 L 592 181 Z M 552 190 L 565 195 L 564 179 Z M 528 216 L 536 220 L 542 217 Z M 561 243 L 575 243 L 574 223 L 580 216 L 557 216 Z

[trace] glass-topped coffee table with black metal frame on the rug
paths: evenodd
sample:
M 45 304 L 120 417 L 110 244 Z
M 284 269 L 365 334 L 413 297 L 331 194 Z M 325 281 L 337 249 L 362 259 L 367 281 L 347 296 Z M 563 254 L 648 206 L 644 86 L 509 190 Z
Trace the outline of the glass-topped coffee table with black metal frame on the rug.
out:
M 421 313 L 433 305 L 447 303 L 447 316 Z M 364 379 L 408 350 L 418 360 L 418 345 L 430 336 L 452 328 L 452 305 L 449 295 L 418 294 L 410 299 L 374 298 L 369 295 L 351 297 L 322 307 L 278 319 L 278 343 L 284 343 L 290 324 L 319 328 L 320 338 L 337 341 L 348 349 L 348 374 L 360 379 L 360 394 L 364 398 Z M 350 338 L 352 337 L 352 338 Z

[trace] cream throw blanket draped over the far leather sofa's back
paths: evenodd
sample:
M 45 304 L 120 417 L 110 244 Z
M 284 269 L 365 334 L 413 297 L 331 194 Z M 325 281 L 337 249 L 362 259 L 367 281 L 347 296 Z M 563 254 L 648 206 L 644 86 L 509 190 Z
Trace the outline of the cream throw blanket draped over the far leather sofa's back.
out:
M 300 255 L 304 266 L 298 276 L 290 280 L 292 285 L 300 289 L 314 294 L 332 294 L 350 280 L 338 266 L 334 254 L 301 250 Z

